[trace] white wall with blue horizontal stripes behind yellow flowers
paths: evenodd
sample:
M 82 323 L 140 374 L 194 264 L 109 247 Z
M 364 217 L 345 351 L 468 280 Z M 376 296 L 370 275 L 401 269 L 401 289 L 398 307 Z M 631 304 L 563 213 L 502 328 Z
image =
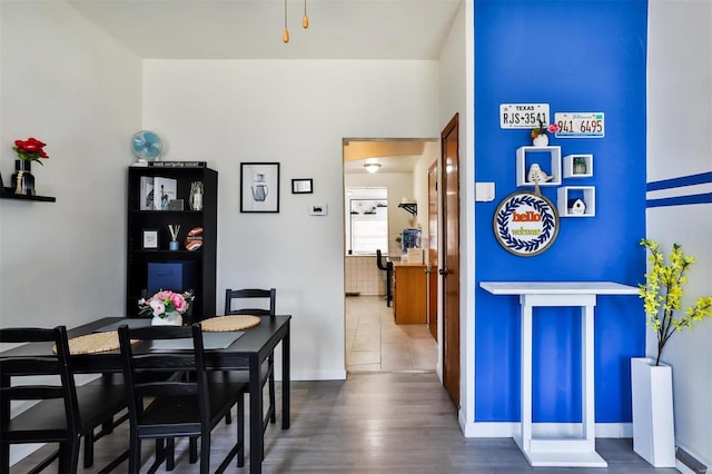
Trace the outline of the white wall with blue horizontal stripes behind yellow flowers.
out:
M 649 8 L 647 181 L 712 171 L 712 3 L 651 1 Z M 647 198 L 711 191 L 703 185 Z M 712 205 L 651 208 L 646 217 L 649 238 L 665 250 L 676 241 L 696 257 L 683 308 L 712 295 Z M 652 330 L 647 353 L 656 354 Z M 673 367 L 676 443 L 712 466 L 712 320 L 675 334 L 662 358 Z

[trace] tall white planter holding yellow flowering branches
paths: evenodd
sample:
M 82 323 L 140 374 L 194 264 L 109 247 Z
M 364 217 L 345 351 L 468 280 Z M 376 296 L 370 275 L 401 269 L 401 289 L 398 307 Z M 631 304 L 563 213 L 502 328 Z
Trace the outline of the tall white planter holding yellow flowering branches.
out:
M 633 451 L 655 467 L 675 467 L 672 367 L 631 358 Z

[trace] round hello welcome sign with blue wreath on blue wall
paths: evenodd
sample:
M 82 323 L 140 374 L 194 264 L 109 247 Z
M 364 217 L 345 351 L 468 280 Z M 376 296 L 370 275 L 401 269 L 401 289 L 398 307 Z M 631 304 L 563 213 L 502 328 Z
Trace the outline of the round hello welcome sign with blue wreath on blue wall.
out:
M 558 235 L 558 214 L 544 196 L 514 192 L 494 214 L 494 234 L 505 250 L 521 257 L 533 257 L 546 250 Z

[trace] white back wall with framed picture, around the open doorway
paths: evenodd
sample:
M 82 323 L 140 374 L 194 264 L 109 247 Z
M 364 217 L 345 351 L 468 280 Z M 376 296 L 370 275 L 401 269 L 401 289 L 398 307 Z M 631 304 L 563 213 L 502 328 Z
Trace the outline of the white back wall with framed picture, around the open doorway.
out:
M 295 379 L 345 377 L 342 139 L 437 136 L 437 81 L 436 61 L 145 63 L 144 126 L 169 142 L 165 159 L 219 172 L 217 286 L 277 288 Z M 239 213 L 241 161 L 280 162 L 279 214 Z M 293 178 L 314 194 L 291 195 Z

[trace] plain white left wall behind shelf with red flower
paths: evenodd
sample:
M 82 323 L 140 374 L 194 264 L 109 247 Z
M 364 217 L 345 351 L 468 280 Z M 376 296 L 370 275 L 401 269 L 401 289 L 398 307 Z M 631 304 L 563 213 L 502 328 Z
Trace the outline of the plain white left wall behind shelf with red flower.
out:
M 0 2 L 0 171 L 37 137 L 37 194 L 0 199 L 0 324 L 68 327 L 122 315 L 126 175 L 141 62 L 63 2 Z

